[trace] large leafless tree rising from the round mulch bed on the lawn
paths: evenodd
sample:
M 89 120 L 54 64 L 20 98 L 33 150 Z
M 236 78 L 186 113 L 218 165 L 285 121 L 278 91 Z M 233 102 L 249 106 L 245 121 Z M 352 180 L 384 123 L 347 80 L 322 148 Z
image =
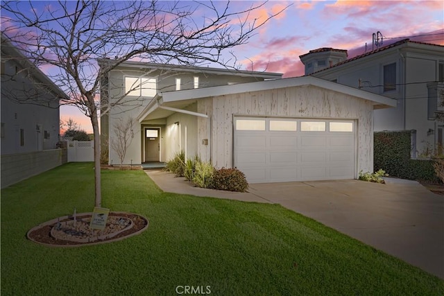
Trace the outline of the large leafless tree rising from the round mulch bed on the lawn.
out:
M 223 60 L 222 53 L 246 44 L 280 13 L 252 19 L 252 12 L 264 5 L 253 2 L 246 10 L 232 11 L 230 2 L 221 1 L 2 1 L 1 31 L 37 67 L 49 67 L 51 80 L 69 96 L 61 104 L 75 105 L 91 119 L 95 204 L 100 207 L 99 111 L 109 110 L 99 110 L 98 96 L 108 73 L 127 60 L 178 66 L 217 63 L 234 69 L 235 55 Z M 97 60 L 106 58 L 112 62 L 99 67 Z M 122 103 L 126 94 L 113 104 Z M 37 96 L 17 101 L 37 103 Z

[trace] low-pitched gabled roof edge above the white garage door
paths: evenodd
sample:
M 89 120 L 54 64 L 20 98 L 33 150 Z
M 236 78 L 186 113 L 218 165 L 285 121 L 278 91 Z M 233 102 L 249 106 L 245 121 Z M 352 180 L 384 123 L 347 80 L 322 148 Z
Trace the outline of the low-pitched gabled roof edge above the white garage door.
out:
M 259 82 L 239 83 L 237 85 L 223 85 L 219 87 L 206 87 L 201 89 L 187 89 L 176 92 L 164 92 L 153 98 L 142 113 L 137 117 L 140 122 L 144 121 L 148 115 L 150 119 L 160 119 L 170 114 L 172 110 L 164 110 L 162 107 L 174 107 L 181 109 L 200 98 L 209 98 L 214 96 L 225 96 L 229 94 L 241 94 L 245 92 L 260 92 L 270 89 L 281 89 L 284 87 L 298 87 L 304 85 L 313 85 L 324 89 L 330 89 L 334 92 L 356 96 L 373 103 L 374 109 L 395 107 L 396 100 L 373 94 L 354 87 L 348 87 L 336 82 L 330 82 L 321 78 L 312 76 L 302 76 L 293 78 L 283 78 L 276 80 L 265 80 Z M 198 115 L 198 114 L 195 114 Z M 203 115 L 203 114 L 200 114 Z

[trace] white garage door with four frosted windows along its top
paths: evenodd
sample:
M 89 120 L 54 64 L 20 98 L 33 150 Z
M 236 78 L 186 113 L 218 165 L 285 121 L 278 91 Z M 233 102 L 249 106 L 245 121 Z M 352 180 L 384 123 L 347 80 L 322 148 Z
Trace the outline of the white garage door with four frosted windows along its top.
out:
M 234 119 L 234 166 L 248 182 L 355 178 L 355 121 Z

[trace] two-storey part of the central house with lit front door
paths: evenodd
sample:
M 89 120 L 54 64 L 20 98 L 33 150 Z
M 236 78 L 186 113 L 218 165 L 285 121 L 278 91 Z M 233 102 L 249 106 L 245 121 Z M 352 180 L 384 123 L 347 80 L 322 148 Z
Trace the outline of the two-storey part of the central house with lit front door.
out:
M 114 60 L 103 59 L 99 60 L 99 65 L 107 67 L 112 62 Z M 198 132 L 196 116 L 186 116 L 187 119 L 185 119 L 180 115 L 196 114 L 197 103 L 180 105 L 178 110 L 175 109 L 175 105 L 169 105 L 169 110 L 163 110 L 162 114 L 165 116 L 144 120 L 142 118 L 148 112 L 148 104 L 159 100 L 163 92 L 207 89 L 205 92 L 211 93 L 210 87 L 218 85 L 234 85 L 277 78 L 282 78 L 282 74 L 123 62 L 110 71 L 108 77 L 102 82 L 101 108 L 102 110 L 110 108 L 110 112 L 101 116 L 101 149 L 108 148 L 109 164 L 119 164 L 119 155 L 111 147 L 112 141 L 119 140 L 117 126 L 126 123 L 128 119 L 133 119 L 131 137 L 128 139 L 123 164 L 165 162 L 173 158 L 174 154 L 180 150 L 185 151 L 189 157 L 194 156 L 197 153 L 196 144 L 191 144 L 189 139 L 195 138 Z M 171 114 L 177 114 L 177 116 L 169 117 Z M 179 121 L 180 125 L 173 124 Z M 178 132 L 179 129 L 181 133 Z

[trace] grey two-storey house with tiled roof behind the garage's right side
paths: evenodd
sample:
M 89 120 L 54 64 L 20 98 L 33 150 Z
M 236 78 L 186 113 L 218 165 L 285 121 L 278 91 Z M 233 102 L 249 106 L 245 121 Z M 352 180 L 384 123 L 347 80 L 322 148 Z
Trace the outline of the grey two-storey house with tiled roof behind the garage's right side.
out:
M 395 108 L 374 112 L 374 130 L 416 130 L 412 157 L 441 151 L 444 46 L 409 39 L 347 60 L 347 51 L 323 48 L 300 55 L 305 75 L 315 76 L 397 100 Z M 416 144 L 416 148 L 414 145 Z

